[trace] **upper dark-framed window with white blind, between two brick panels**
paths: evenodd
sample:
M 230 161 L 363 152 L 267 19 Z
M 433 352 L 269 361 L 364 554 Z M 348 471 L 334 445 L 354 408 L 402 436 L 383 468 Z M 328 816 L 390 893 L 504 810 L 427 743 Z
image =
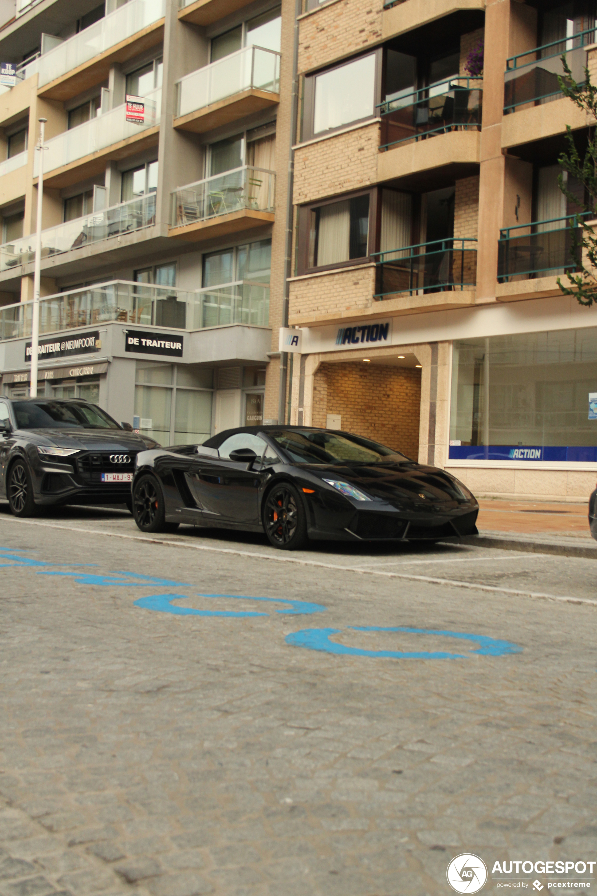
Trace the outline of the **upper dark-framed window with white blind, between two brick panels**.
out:
M 305 78 L 303 140 L 376 115 L 380 51 Z

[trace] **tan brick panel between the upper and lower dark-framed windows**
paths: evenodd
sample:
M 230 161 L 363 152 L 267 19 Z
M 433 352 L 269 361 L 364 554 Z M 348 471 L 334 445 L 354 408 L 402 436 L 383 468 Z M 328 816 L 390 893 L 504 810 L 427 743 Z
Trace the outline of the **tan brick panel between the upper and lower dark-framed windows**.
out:
M 313 202 L 376 183 L 379 123 L 311 143 L 295 153 L 294 202 Z

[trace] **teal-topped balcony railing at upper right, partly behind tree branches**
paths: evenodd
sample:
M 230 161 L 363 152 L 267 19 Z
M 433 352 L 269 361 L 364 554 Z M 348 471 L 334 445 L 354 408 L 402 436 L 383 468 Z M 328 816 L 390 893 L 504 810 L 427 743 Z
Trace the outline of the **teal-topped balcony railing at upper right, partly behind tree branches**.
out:
M 564 77 L 563 55 L 566 55 L 575 82 L 584 83 L 586 47 L 595 42 L 596 34 L 594 28 L 579 31 L 574 37 L 554 40 L 508 59 L 504 75 L 504 113 L 515 112 L 528 103 L 539 105 L 561 96 L 558 76 Z

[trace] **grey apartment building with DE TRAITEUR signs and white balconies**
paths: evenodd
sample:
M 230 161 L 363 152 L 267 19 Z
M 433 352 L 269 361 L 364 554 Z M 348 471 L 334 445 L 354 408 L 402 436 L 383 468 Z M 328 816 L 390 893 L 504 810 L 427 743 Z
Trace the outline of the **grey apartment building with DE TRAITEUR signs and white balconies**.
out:
M 39 394 L 160 444 L 276 420 L 293 0 L 0 16 L 2 392 L 29 389 L 43 117 Z

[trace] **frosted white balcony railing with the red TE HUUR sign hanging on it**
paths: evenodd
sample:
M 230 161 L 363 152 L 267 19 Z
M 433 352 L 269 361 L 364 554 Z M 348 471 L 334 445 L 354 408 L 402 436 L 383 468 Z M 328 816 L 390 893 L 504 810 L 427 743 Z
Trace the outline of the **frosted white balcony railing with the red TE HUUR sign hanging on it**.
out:
M 44 156 L 44 172 L 48 173 L 77 159 L 84 159 L 85 156 L 91 155 L 91 152 L 104 150 L 127 137 L 142 133 L 148 127 L 158 125 L 161 113 L 161 88 L 152 90 L 144 99 L 145 121 L 142 125 L 126 121 L 126 107 L 123 104 L 48 140 L 46 143 L 48 150 Z M 39 152 L 36 152 L 34 177 L 38 176 L 38 168 Z

